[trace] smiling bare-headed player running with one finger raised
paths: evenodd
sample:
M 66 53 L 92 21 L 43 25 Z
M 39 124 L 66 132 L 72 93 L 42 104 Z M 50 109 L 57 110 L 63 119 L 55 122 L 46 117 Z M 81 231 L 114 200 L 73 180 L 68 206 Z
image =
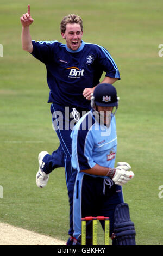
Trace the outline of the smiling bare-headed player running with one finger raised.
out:
M 36 175 L 38 187 L 47 184 L 49 173 L 55 168 L 65 167 L 66 183 L 72 175 L 71 166 L 71 127 L 65 123 L 72 120 L 78 121 L 82 112 L 91 109 L 90 98 L 95 86 L 99 83 L 103 71 L 106 72 L 104 82 L 114 83 L 120 80 L 118 68 L 109 52 L 102 46 L 87 44 L 82 40 L 83 22 L 77 15 L 68 15 L 60 23 L 61 36 L 66 44 L 58 41 L 32 40 L 29 27 L 33 23 L 28 13 L 21 17 L 22 23 L 22 48 L 43 62 L 47 69 L 47 83 L 50 89 L 48 102 L 52 103 L 51 113 L 53 126 L 60 140 L 58 150 L 52 155 L 47 151 L 39 154 L 39 172 Z M 65 107 L 69 112 L 65 116 Z M 60 125 L 57 113 L 63 115 Z M 68 117 L 68 118 L 67 118 Z M 73 127 L 72 127 L 73 128 Z

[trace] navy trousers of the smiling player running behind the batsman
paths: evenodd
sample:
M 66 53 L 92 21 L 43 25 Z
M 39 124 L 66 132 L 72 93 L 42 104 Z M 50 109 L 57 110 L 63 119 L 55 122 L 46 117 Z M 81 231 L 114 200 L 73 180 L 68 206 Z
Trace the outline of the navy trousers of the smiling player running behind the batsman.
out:
M 60 145 L 58 149 L 53 151 L 51 155 L 47 154 L 43 158 L 43 162 L 45 162 L 43 171 L 46 174 L 49 174 L 55 168 L 65 167 L 65 178 L 70 203 L 70 230 L 68 232 L 68 234 L 70 235 L 73 234 L 73 186 L 76 178 L 76 172 L 73 170 L 71 165 L 72 139 L 70 135 L 73 126 L 76 124 L 76 120 L 78 120 L 78 118 L 81 118 L 82 115 L 86 114 L 86 112 L 89 110 L 90 109 L 77 108 L 78 116 L 76 115 L 76 113 L 74 113 L 73 116 L 73 108 L 62 107 L 54 103 L 51 105 L 53 127 L 54 130 L 57 132 Z M 74 120 L 74 118 L 76 118 L 76 120 Z

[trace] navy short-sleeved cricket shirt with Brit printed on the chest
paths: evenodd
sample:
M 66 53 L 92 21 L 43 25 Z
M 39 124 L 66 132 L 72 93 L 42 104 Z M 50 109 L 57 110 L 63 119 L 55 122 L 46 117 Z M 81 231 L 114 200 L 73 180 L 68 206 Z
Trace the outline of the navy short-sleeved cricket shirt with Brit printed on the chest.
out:
M 83 90 L 96 86 L 103 72 L 105 76 L 120 79 L 114 59 L 102 46 L 82 41 L 78 50 L 72 51 L 58 41 L 32 40 L 32 44 L 32 55 L 46 65 L 48 102 L 90 109 Z

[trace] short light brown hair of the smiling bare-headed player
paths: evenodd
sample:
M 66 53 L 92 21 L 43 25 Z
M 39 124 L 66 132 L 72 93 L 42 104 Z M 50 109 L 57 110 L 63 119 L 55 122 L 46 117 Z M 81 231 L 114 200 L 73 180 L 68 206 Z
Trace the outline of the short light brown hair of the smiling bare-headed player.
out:
M 83 32 L 83 21 L 82 18 L 76 14 L 68 14 L 67 16 L 65 16 L 60 23 L 60 30 L 62 33 L 65 33 L 66 31 L 66 25 L 67 23 L 77 23 L 80 25 L 81 30 Z

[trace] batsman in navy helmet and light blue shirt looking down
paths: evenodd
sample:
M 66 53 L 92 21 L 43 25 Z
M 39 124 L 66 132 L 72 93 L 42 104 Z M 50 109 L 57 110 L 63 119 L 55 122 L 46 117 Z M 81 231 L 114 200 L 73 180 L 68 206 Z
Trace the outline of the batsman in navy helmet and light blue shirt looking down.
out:
M 115 112 L 118 108 L 115 87 L 99 84 L 91 105 L 91 111 L 78 121 L 71 133 L 72 166 L 78 172 L 73 194 L 73 244 L 81 244 L 81 218 L 105 216 L 110 218 L 113 245 L 135 245 L 134 223 L 122 194 L 122 185 L 132 179 L 134 173 L 126 162 L 118 162 L 114 167 L 117 152 Z M 87 225 L 86 241 L 87 245 L 92 244 L 91 224 Z

